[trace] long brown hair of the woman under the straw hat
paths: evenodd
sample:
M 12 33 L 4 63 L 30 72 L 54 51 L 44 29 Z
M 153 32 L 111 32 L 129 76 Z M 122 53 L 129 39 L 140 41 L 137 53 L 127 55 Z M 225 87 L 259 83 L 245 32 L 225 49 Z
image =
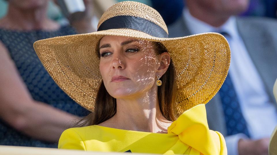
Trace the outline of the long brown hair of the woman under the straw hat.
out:
M 157 55 L 168 52 L 166 47 L 160 42 L 153 42 Z M 97 46 L 97 54 L 100 58 L 99 44 Z M 170 64 L 167 71 L 160 78 L 162 85 L 158 87 L 158 102 L 162 115 L 169 121 L 175 121 L 177 118 L 175 110 L 175 95 L 176 95 L 176 71 L 170 59 Z M 95 100 L 94 111 L 78 121 L 77 126 L 98 125 L 116 113 L 116 99 L 113 98 L 106 90 L 103 81 L 100 84 L 98 94 Z

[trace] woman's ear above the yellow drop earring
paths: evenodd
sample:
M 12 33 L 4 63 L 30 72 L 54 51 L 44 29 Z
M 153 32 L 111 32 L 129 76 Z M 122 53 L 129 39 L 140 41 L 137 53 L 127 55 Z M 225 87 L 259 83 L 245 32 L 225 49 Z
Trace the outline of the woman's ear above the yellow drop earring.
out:
M 164 52 L 158 56 L 158 70 L 156 72 L 157 75 L 164 75 L 164 73 L 167 71 L 167 68 L 169 67 L 170 64 L 170 55 L 167 52 Z

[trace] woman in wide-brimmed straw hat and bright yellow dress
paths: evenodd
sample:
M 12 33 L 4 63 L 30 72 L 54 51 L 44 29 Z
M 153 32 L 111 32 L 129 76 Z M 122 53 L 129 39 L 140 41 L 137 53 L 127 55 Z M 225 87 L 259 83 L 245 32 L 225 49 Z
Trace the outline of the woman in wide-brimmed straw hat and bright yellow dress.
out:
M 168 38 L 156 10 L 124 1 L 102 15 L 98 32 L 40 40 L 34 48 L 57 84 L 92 111 L 84 127 L 63 132 L 59 148 L 227 154 L 205 113 L 230 63 L 220 34 Z

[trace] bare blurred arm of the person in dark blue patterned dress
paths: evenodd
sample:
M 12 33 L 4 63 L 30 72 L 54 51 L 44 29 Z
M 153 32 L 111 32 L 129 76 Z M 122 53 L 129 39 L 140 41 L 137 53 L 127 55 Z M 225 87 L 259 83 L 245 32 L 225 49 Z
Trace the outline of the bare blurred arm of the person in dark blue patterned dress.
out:
M 0 118 L 35 139 L 58 142 L 77 117 L 33 100 L 7 49 L 0 42 Z

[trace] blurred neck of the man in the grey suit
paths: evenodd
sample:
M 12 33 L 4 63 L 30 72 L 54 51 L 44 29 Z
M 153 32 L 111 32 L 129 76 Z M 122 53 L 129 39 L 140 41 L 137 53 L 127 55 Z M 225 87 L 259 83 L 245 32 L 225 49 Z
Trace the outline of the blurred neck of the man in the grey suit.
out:
M 189 3 L 188 3 L 189 5 Z M 205 8 L 202 9 L 201 6 L 194 7 L 195 5 L 188 6 L 190 14 L 213 27 L 222 26 L 229 18 L 230 15 L 220 15 Z M 215 15 L 216 14 L 216 15 Z

